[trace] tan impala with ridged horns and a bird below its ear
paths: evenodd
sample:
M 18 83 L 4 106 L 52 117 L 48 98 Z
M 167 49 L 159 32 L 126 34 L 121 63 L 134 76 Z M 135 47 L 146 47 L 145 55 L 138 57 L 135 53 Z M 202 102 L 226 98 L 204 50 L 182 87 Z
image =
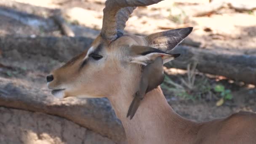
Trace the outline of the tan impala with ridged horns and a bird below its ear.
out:
M 159 86 L 144 96 L 133 119 L 126 117 L 142 68 L 158 57 L 163 63 L 174 59 L 177 55 L 170 50 L 192 31 L 188 27 L 147 37 L 123 35 L 125 22 L 136 6 L 160 1 L 107 0 L 101 33 L 91 47 L 47 76 L 52 94 L 59 98 L 107 97 L 122 121 L 129 144 L 256 144 L 254 113 L 192 122 L 173 111 Z

